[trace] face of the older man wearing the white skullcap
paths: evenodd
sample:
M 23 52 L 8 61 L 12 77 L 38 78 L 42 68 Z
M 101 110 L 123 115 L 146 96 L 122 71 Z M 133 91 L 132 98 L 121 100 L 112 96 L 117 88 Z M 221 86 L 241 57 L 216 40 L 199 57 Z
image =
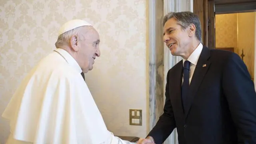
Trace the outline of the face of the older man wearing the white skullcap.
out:
M 96 57 L 100 56 L 100 37 L 93 27 L 84 28 L 82 35 L 84 36 L 83 40 L 78 42 L 78 59 L 82 71 L 87 73 L 92 70 Z

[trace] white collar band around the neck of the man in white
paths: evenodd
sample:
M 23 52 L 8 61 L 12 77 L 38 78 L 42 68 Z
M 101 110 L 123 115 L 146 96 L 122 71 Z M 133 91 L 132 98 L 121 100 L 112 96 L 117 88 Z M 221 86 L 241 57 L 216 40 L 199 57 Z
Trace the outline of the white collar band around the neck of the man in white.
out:
M 79 73 L 82 72 L 82 69 L 80 68 L 76 60 L 66 50 L 62 48 L 57 48 L 56 51 L 59 52 L 67 60 L 68 64 L 78 70 Z

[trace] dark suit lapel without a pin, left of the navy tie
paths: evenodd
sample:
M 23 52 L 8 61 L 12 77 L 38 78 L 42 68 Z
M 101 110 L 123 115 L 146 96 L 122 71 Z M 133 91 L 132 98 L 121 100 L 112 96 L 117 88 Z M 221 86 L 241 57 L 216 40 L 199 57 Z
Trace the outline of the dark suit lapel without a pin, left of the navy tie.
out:
M 172 71 L 169 79 L 170 96 L 172 101 L 172 107 L 179 110 L 179 113 L 184 119 L 184 112 L 181 100 L 181 84 L 182 84 L 182 72 L 183 72 L 183 62 L 182 60 L 178 62 L 175 69 Z

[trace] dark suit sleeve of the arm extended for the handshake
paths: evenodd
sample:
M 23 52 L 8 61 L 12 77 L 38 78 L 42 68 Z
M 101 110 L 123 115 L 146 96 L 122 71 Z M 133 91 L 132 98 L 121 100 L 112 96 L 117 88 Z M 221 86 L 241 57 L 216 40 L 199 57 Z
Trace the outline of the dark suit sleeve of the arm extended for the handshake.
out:
M 148 136 L 152 136 L 154 138 L 156 144 L 162 144 L 176 127 L 169 95 L 169 73 L 170 71 L 167 74 L 164 113 L 160 116 L 156 126 L 154 126 L 148 134 Z

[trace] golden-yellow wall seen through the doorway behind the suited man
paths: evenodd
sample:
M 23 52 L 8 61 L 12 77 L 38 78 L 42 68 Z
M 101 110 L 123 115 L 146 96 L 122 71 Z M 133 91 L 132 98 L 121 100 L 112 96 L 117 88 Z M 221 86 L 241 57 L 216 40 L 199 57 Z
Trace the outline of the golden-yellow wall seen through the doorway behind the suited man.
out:
M 254 78 L 254 36 L 256 12 L 216 15 L 216 48 L 233 47 L 241 55 Z

